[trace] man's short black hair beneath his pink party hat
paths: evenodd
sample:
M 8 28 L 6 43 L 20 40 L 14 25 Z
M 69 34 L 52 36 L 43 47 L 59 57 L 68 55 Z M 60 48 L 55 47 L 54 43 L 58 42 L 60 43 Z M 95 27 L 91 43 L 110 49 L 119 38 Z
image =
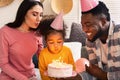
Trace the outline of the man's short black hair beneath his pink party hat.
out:
M 105 16 L 106 19 L 108 21 L 110 21 L 109 9 L 101 1 L 99 1 L 99 4 L 95 8 L 93 8 L 92 10 L 89 10 L 87 12 L 82 12 L 82 14 L 87 14 L 87 13 L 91 13 L 93 16 L 98 16 L 100 18 L 102 18 L 103 16 Z

